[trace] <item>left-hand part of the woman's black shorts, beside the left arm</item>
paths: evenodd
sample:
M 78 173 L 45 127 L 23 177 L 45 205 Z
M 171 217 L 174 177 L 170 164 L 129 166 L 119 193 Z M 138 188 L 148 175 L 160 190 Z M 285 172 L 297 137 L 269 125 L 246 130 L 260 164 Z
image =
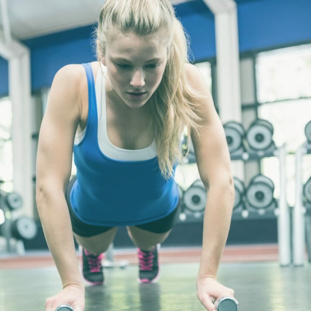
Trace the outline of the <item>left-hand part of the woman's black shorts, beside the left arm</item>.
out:
M 70 192 L 71 192 L 71 189 L 72 189 L 72 186 L 75 180 L 76 180 L 76 176 L 74 176 L 70 180 L 67 190 L 65 192 L 65 198 L 66 198 L 67 205 L 68 205 L 73 233 L 79 236 L 80 238 L 81 237 L 92 237 L 92 236 L 102 234 L 113 229 L 114 227 L 109 227 L 109 226 L 89 225 L 77 218 L 74 211 L 72 210 L 72 206 L 70 203 Z

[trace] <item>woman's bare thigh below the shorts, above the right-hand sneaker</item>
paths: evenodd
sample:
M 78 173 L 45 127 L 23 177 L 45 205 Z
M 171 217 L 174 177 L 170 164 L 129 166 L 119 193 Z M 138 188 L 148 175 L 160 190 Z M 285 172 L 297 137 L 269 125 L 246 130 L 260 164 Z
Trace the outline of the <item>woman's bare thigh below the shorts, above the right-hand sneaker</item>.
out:
M 164 242 L 172 231 L 171 229 L 165 233 L 154 233 L 135 226 L 129 226 L 127 230 L 133 243 L 145 251 L 150 251 L 156 244 Z

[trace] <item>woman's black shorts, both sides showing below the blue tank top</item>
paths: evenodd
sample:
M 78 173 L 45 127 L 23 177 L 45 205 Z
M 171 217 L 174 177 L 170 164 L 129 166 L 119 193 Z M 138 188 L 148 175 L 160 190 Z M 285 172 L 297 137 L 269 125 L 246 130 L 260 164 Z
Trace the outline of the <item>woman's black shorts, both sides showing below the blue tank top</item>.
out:
M 75 180 L 76 180 L 76 176 L 74 176 L 69 181 L 68 187 L 65 192 L 65 197 L 66 197 L 69 214 L 70 214 L 70 220 L 72 224 L 72 231 L 80 236 L 90 237 L 93 235 L 104 233 L 112 229 L 113 227 L 108 227 L 108 226 L 89 225 L 77 218 L 74 211 L 72 210 L 72 206 L 70 204 L 70 197 L 69 197 L 72 185 L 75 182 Z M 179 212 L 180 212 L 180 198 L 179 198 L 177 207 L 168 216 L 165 216 L 162 219 L 155 220 L 155 221 L 152 221 L 146 224 L 136 225 L 135 227 L 143 229 L 143 230 L 147 230 L 150 232 L 154 232 L 154 233 L 165 233 L 173 228 L 173 225 L 175 223 L 177 216 L 179 215 Z

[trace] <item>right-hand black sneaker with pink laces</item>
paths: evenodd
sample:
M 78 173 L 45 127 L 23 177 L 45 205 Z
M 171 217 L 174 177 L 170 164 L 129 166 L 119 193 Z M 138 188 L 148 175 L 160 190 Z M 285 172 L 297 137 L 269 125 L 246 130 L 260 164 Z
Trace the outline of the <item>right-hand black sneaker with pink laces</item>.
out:
M 139 259 L 139 281 L 141 283 L 151 283 L 159 279 L 158 247 L 160 249 L 160 244 L 155 246 L 151 251 L 143 251 L 140 248 L 137 249 Z

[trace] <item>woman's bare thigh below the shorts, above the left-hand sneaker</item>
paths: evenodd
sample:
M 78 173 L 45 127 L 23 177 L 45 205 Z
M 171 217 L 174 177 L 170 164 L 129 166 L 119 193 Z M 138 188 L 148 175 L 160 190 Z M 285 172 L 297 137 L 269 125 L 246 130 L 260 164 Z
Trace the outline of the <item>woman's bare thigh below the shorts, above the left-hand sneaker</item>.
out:
M 73 233 L 77 240 L 77 243 L 92 254 L 100 254 L 107 251 L 109 245 L 114 240 L 115 234 L 118 231 L 118 227 L 114 227 L 104 233 L 97 234 L 91 237 L 83 237 Z

